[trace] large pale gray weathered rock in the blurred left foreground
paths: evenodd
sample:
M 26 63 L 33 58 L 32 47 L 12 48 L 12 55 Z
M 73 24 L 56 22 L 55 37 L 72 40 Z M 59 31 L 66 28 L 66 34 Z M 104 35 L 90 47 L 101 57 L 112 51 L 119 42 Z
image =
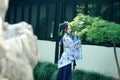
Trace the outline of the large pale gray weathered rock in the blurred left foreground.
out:
M 26 22 L 4 22 L 8 0 L 0 0 L 0 80 L 34 80 L 37 37 Z

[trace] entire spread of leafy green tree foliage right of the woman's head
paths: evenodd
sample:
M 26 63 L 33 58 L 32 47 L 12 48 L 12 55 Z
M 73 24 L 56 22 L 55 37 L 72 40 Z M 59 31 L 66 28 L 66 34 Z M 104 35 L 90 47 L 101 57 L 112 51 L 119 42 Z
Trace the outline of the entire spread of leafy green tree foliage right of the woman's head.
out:
M 78 14 L 70 24 L 81 39 L 91 43 L 120 43 L 120 25 L 114 22 Z

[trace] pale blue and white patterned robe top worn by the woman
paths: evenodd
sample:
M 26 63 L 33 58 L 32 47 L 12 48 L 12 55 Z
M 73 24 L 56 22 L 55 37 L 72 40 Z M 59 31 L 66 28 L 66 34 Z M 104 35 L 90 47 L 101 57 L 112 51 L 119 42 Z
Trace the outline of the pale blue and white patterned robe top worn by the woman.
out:
M 71 64 L 73 60 L 79 60 L 82 58 L 81 42 L 79 38 L 65 33 L 62 41 L 64 50 L 61 58 L 58 60 L 58 68 Z

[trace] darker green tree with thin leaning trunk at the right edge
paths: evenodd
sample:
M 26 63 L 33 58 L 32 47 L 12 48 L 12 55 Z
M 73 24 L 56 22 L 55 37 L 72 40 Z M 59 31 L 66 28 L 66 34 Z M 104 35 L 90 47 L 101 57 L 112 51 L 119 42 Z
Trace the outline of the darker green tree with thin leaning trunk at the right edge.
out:
M 120 25 L 107 22 L 96 21 L 87 31 L 87 40 L 94 43 L 110 42 L 113 44 L 115 60 L 120 78 L 120 67 L 116 53 L 116 44 L 120 43 Z

